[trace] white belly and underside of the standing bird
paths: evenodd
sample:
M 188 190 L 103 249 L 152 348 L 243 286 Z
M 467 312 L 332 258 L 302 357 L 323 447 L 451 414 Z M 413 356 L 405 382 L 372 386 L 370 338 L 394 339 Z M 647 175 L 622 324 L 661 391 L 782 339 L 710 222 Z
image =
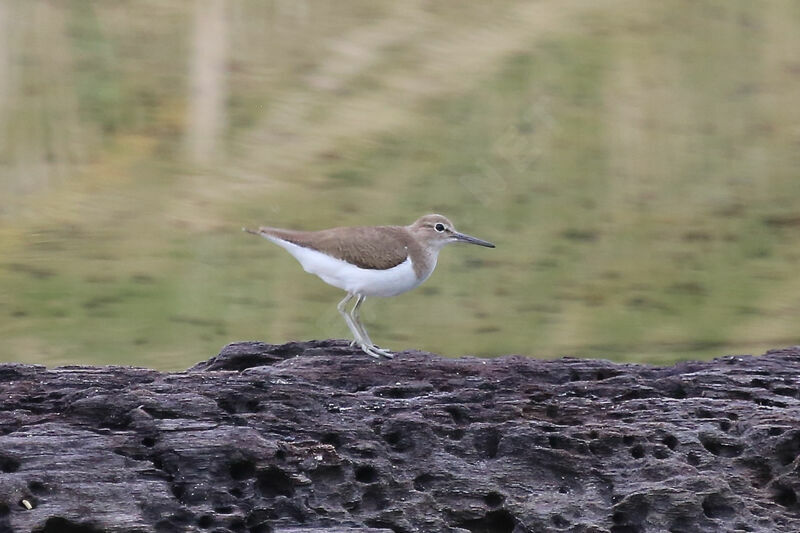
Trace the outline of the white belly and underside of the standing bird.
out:
M 411 259 L 386 270 L 372 270 L 351 265 L 322 252 L 303 248 L 276 237 L 265 237 L 292 254 L 306 272 L 316 274 L 322 281 L 347 292 L 363 296 L 394 296 L 410 291 L 425 281 L 428 275 L 417 278 Z M 431 272 L 433 269 L 431 269 Z

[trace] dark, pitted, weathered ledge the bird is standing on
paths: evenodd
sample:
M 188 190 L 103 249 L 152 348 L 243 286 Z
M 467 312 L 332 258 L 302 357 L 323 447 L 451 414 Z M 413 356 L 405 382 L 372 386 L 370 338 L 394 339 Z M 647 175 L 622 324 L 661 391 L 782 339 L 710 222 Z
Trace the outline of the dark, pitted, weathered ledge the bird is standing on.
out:
M 658 368 L 237 343 L 0 365 L 0 531 L 800 531 L 800 347 Z M 28 509 L 30 507 L 30 509 Z

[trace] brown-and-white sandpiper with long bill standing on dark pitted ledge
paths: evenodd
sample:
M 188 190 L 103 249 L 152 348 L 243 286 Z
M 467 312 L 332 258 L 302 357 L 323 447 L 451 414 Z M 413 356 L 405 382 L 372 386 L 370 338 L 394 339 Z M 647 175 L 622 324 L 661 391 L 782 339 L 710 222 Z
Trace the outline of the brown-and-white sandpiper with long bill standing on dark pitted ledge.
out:
M 408 226 L 355 226 L 297 231 L 242 228 L 289 252 L 306 272 L 347 292 L 337 309 L 353 334 L 351 346 L 374 358 L 394 355 L 375 346 L 361 321 L 367 297 L 389 297 L 410 291 L 430 277 L 445 245 L 462 242 L 494 248 L 494 244 L 456 231 L 443 215 L 425 215 Z M 355 299 L 348 310 L 347 304 Z

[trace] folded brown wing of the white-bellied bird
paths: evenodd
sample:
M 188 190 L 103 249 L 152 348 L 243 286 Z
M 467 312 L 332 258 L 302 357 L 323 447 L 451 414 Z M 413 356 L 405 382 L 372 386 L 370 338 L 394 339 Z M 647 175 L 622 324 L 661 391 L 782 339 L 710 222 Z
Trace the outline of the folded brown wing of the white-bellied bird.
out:
M 408 258 L 410 237 L 398 226 L 291 231 L 261 228 L 279 239 L 311 248 L 361 268 L 386 270 Z

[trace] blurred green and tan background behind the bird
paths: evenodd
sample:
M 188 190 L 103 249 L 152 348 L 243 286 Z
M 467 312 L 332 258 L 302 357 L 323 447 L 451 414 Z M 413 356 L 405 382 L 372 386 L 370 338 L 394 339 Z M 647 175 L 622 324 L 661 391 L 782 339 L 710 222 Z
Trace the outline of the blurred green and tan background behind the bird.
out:
M 392 350 L 800 343 L 795 0 L 0 0 L 0 360 L 182 369 L 349 335 L 243 225 L 451 246 Z

